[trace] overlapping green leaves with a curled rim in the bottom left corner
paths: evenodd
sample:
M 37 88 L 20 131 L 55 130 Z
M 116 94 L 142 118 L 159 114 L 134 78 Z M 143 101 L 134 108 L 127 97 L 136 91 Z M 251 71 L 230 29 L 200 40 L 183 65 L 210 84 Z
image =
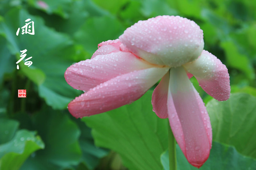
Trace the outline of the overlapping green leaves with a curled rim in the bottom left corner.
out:
M 31 153 L 44 148 L 44 143 L 33 131 L 22 129 L 15 133 L 18 127 L 16 121 L 1 119 L 0 122 L 1 134 L 4 134 L 0 145 L 0 169 L 18 170 Z

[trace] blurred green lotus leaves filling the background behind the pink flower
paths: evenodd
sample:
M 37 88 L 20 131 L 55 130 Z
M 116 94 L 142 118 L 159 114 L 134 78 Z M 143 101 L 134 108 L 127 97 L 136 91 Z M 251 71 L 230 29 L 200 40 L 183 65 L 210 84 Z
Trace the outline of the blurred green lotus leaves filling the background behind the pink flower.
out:
M 100 42 L 158 15 L 194 20 L 204 31 L 204 49 L 228 68 L 236 94 L 227 102 L 212 100 L 191 78 L 207 104 L 218 142 L 209 161 L 213 165 L 214 158 L 230 150 L 236 159 L 223 156 L 229 159 L 223 159 L 224 169 L 256 169 L 255 9 L 252 0 L 0 0 L 0 169 L 166 168 L 166 154 L 160 156 L 167 149 L 168 123 L 152 112 L 153 88 L 131 105 L 81 121 L 67 105 L 82 91 L 64 79 L 65 70 L 89 59 Z M 16 36 L 28 18 L 35 23 L 35 35 L 20 30 Z M 17 70 L 23 49 L 33 64 L 27 67 L 23 60 Z M 26 89 L 27 98 L 18 98 L 18 89 Z M 234 162 L 240 164 L 227 166 Z M 178 168 L 193 169 L 182 167 L 185 163 Z

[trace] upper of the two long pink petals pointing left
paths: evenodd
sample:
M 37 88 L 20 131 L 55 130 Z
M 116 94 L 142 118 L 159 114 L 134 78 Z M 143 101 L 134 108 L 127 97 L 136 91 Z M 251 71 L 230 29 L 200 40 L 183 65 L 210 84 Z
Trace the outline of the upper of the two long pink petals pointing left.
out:
M 75 63 L 68 67 L 64 76 L 73 88 L 88 91 L 116 76 L 150 67 L 153 65 L 132 53 L 119 51 Z

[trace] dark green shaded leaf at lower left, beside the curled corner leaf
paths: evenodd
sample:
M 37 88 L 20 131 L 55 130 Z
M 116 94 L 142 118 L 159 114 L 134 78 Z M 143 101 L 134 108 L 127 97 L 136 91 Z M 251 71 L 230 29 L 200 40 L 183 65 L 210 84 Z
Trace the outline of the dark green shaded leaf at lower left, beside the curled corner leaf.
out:
M 21 170 L 42 169 L 42 166 L 43 169 L 59 170 L 79 164 L 82 156 L 78 142 L 80 130 L 67 114 L 42 109 L 33 122 L 34 129 L 44 140 L 45 149 L 30 157 Z

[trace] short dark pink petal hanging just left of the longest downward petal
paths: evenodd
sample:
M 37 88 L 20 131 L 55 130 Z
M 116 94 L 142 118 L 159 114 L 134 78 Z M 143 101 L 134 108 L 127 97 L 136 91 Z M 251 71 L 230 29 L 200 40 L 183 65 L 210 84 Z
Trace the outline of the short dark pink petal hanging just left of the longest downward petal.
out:
M 161 119 L 165 119 L 168 117 L 167 95 L 169 87 L 169 77 L 170 75 L 168 71 L 161 79 L 160 83 L 156 86 L 152 94 L 151 103 L 153 106 L 153 111 Z

